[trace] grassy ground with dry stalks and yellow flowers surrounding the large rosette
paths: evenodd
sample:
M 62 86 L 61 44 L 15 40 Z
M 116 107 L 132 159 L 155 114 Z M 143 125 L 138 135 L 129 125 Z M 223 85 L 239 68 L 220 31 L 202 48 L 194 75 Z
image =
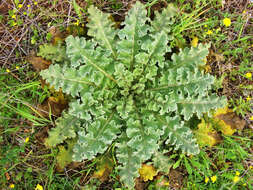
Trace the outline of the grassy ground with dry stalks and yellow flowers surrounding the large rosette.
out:
M 0 6 L 0 186 L 3 189 L 117 189 L 123 190 L 116 170 L 103 181 L 99 172 L 103 157 L 92 162 L 71 163 L 59 170 L 58 149 L 44 146 L 47 131 L 54 126 L 52 109 L 41 114 L 48 97 L 55 96 L 43 82 L 27 56 L 37 52 L 41 44 L 65 34 L 85 33 L 87 6 L 95 4 L 122 21 L 131 1 L 3 1 Z M 194 37 L 199 43 L 212 43 L 205 70 L 217 78 L 216 91 L 226 95 L 229 107 L 245 121 L 243 130 L 234 136 L 223 135 L 223 141 L 213 147 L 202 147 L 201 153 L 187 157 L 171 151 L 169 186 L 161 185 L 158 177 L 144 183 L 140 189 L 252 189 L 252 54 L 253 28 L 250 25 L 253 3 L 219 0 L 146 0 L 149 16 L 173 2 L 179 16 L 173 33 L 174 48 L 190 46 Z M 8 5 L 8 6 L 7 6 Z M 22 5 L 22 6 L 21 6 Z M 7 10 L 7 11 L 6 11 Z M 225 26 L 224 18 L 231 20 Z M 66 31 L 68 26 L 74 26 Z M 52 32 L 59 29 L 60 33 Z M 78 31 L 77 31 L 78 30 Z M 210 31 L 210 32 L 208 32 Z M 81 32 L 82 33 L 82 32 Z M 65 145 L 67 150 L 67 145 Z M 113 146 L 107 157 L 117 164 Z M 160 174 L 159 174 L 160 175 Z M 178 180 L 173 177 L 177 176 Z M 216 176 L 216 177 L 215 177 Z M 181 181 L 179 179 L 182 179 Z M 163 181 L 164 183 L 164 181 Z M 176 185 L 178 184 L 178 185 Z

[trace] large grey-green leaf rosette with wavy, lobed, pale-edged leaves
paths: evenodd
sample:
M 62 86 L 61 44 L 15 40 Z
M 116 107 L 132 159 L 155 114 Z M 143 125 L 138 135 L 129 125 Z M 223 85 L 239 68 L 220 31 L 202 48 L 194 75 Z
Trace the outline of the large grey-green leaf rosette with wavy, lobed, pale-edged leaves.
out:
M 198 69 L 209 44 L 166 58 L 173 39 L 171 7 L 156 12 L 151 20 L 137 2 L 122 29 L 114 28 L 109 15 L 93 6 L 88 12 L 92 39 L 69 36 L 69 62 L 41 72 L 55 89 L 76 98 L 49 133 L 47 144 L 77 138 L 74 161 L 93 159 L 115 144 L 121 180 L 133 189 L 138 169 L 159 150 L 160 142 L 188 155 L 198 154 L 185 121 L 223 107 L 225 98 L 210 92 L 214 77 Z

